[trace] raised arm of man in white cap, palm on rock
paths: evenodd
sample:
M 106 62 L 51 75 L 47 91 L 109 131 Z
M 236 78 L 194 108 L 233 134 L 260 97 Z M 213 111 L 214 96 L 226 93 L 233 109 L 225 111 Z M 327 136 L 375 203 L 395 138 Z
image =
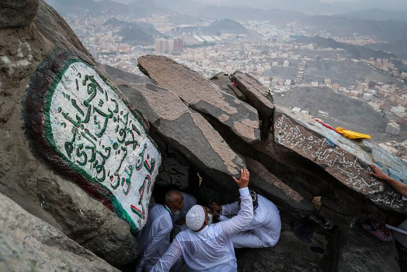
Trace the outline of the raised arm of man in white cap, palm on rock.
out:
M 249 171 L 242 169 L 240 171 L 240 179 L 237 180 L 233 177 L 236 184 L 239 186 L 240 193 L 240 211 L 238 215 L 232 217 L 230 220 L 219 222 L 219 227 L 225 233 L 227 238 L 231 238 L 236 233 L 242 231 L 253 220 L 253 203 L 249 193 Z

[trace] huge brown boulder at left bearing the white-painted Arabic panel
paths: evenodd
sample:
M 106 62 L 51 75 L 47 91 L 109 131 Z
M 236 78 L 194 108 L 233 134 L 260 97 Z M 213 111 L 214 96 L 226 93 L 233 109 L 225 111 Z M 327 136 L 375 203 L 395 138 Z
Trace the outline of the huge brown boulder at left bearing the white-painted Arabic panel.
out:
M 0 30 L 0 192 L 114 265 L 137 258 L 161 157 L 64 19 Z

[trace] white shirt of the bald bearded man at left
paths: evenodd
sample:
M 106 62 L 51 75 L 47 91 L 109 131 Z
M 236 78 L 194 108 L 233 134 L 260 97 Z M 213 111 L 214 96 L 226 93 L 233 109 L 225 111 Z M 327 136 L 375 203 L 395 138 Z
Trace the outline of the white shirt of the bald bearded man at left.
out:
M 140 261 L 137 271 L 150 271 L 169 248 L 169 234 L 172 230 L 170 213 L 163 205 L 150 205 L 147 224 L 138 233 Z

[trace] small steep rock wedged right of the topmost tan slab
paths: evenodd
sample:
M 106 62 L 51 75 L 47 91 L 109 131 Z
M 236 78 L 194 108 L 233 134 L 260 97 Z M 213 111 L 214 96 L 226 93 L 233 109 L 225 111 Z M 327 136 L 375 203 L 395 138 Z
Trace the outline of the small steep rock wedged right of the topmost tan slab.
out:
M 269 88 L 263 86 L 250 74 L 241 71 L 231 74 L 230 80 L 235 82 L 239 90 L 247 97 L 247 101 L 256 108 L 261 120 L 263 137 L 268 138 L 274 110 L 273 97 Z

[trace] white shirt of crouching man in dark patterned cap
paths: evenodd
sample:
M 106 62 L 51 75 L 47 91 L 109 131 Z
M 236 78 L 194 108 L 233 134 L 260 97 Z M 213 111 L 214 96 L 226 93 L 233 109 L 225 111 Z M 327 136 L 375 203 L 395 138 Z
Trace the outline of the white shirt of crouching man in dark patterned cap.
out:
M 222 205 L 221 215 L 235 215 L 239 212 L 239 203 Z M 264 247 L 274 247 L 280 238 L 281 219 L 276 205 L 267 198 L 257 196 L 257 208 L 253 212 L 253 220 L 242 231 L 251 230 L 256 234 Z M 244 241 L 240 241 L 242 244 Z M 252 244 L 252 243 L 249 243 Z M 259 244 L 258 247 L 261 245 Z

